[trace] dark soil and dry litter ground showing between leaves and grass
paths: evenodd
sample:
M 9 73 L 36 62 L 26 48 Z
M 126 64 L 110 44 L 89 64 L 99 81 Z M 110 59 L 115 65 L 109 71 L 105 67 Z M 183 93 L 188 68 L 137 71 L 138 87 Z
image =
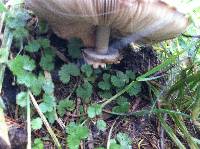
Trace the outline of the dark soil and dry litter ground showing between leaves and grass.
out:
M 58 38 L 55 35 L 50 37 L 51 44 L 56 47 L 56 49 L 61 52 L 66 58 L 68 55 L 64 50 L 65 41 Z M 15 48 L 12 49 L 13 53 Z M 120 64 L 112 65 L 109 71 L 112 70 L 132 70 L 136 72 L 137 75 L 143 74 L 150 70 L 151 68 L 160 64 L 160 61 L 157 58 L 156 52 L 150 46 L 141 47 L 140 50 L 134 50 L 132 47 L 128 46 L 122 50 L 123 59 Z M 36 55 L 32 55 L 37 59 Z M 81 65 L 83 61 L 70 60 L 71 62 Z M 55 60 L 56 67 L 60 68 L 64 62 L 60 59 L 59 56 Z M 58 77 L 59 69 L 55 69 L 51 72 L 51 76 L 55 85 L 55 97 L 57 99 L 64 99 L 68 97 L 73 88 L 80 82 L 76 78 L 73 79 L 69 84 L 63 84 Z M 6 69 L 5 79 L 3 82 L 3 99 L 6 103 L 6 120 L 9 126 L 9 135 L 11 138 L 11 143 L 14 148 L 26 148 L 26 119 L 21 114 L 21 110 L 15 104 L 16 95 L 20 90 L 23 90 L 23 86 L 18 86 L 14 83 L 15 78 L 11 72 Z M 164 85 L 164 79 L 158 81 L 152 81 L 154 85 L 158 88 L 161 88 Z M 98 102 L 99 96 L 97 95 L 97 88 L 93 90 L 92 100 Z M 73 95 L 72 95 L 73 97 Z M 153 103 L 152 94 L 149 92 L 148 85 L 146 83 L 142 84 L 142 91 L 137 97 L 129 99 L 131 108 L 130 112 L 150 109 Z M 76 99 L 76 109 L 80 106 L 86 106 L 81 102 L 80 99 Z M 87 126 L 90 128 L 91 135 L 87 141 L 82 142 L 81 148 L 92 149 L 97 146 L 106 146 L 108 133 L 113 124 L 114 128 L 112 130 L 112 136 L 115 136 L 119 131 L 128 134 L 133 141 L 133 148 L 144 148 L 144 149 L 159 149 L 161 141 L 165 140 L 165 148 L 175 148 L 175 145 L 163 134 L 163 130 L 160 127 L 158 120 L 154 115 L 144 115 L 144 116 L 117 116 L 111 113 L 109 110 L 112 107 L 111 105 L 106 106 L 103 111 L 103 115 L 100 117 L 105 120 L 108 128 L 105 132 L 99 132 L 95 125 L 95 120 L 90 121 Z M 76 121 L 80 117 L 87 118 L 87 114 L 80 115 L 78 110 L 73 112 L 67 112 L 62 120 L 65 124 L 69 123 L 69 120 Z M 53 130 L 56 132 L 57 137 L 60 142 L 65 145 L 66 134 L 64 130 L 60 128 L 59 125 L 54 124 Z M 33 133 L 33 137 L 46 137 L 48 132 L 46 129 L 41 129 Z M 164 140 L 163 138 L 164 137 Z M 20 139 L 19 139 L 20 138 Z M 50 140 L 45 141 L 45 148 L 54 148 Z

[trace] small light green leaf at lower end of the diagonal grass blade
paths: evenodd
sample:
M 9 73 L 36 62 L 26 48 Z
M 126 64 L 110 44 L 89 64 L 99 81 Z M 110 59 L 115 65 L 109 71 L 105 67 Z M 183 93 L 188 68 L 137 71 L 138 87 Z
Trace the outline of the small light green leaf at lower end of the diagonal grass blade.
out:
M 99 104 L 94 104 L 88 107 L 87 114 L 89 118 L 94 118 L 95 116 L 102 114 L 102 107 Z

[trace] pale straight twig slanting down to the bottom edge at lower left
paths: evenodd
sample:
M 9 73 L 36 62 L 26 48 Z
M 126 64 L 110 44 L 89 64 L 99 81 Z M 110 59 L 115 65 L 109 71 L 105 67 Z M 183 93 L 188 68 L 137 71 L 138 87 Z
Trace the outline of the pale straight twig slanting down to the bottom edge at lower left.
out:
M 35 100 L 35 97 L 33 96 L 33 94 L 32 94 L 30 91 L 28 91 L 28 93 L 29 93 L 30 99 L 31 99 L 31 101 L 32 101 L 32 103 L 33 103 L 35 109 L 37 110 L 38 114 L 40 115 L 40 117 L 41 117 L 41 119 L 42 119 L 44 125 L 46 126 L 46 128 L 47 128 L 49 134 L 51 135 L 51 137 L 52 137 L 54 143 L 56 144 L 56 146 L 57 146 L 59 149 L 62 149 L 61 144 L 59 143 L 59 141 L 58 141 L 56 135 L 54 134 L 54 132 L 53 132 L 51 126 L 49 125 L 49 123 L 48 123 L 46 117 L 44 116 L 44 114 L 43 114 L 42 111 L 40 110 L 40 107 L 39 107 L 39 105 L 37 104 L 37 101 Z

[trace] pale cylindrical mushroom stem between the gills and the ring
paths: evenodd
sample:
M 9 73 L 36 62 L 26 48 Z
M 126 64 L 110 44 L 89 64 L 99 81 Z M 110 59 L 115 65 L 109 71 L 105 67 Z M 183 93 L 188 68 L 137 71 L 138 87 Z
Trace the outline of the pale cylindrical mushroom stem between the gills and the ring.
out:
M 108 52 L 110 38 L 109 26 L 98 26 L 96 31 L 96 51 L 100 54 L 106 54 Z

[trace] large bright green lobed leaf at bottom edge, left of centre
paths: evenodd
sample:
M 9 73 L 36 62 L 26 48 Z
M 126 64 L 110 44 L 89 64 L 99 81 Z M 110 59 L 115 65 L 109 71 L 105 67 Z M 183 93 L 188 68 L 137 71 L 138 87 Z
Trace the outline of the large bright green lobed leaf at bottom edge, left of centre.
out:
M 81 140 L 86 139 L 89 136 L 87 127 L 75 123 L 70 123 L 67 126 L 66 132 L 68 133 L 67 145 L 69 149 L 78 149 Z

